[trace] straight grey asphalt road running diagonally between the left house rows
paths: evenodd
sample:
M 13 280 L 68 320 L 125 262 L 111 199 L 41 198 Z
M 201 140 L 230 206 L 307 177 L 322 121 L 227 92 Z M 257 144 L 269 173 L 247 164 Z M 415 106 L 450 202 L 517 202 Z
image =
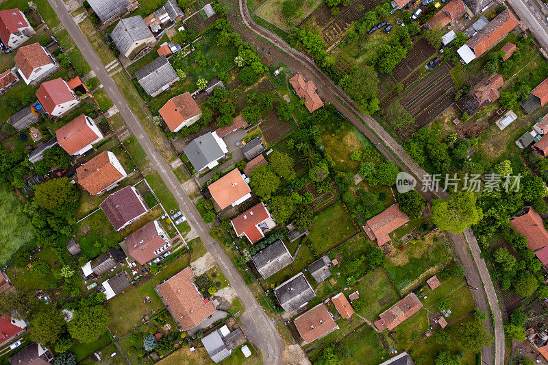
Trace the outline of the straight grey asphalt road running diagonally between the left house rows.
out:
M 114 104 L 119 109 L 125 123 L 127 123 L 129 129 L 134 136 L 136 136 L 140 145 L 145 150 L 145 153 L 149 156 L 150 165 L 158 171 L 160 177 L 162 177 L 162 180 L 177 200 L 177 203 L 179 203 L 188 223 L 192 228 L 198 231 L 202 242 L 206 244 L 208 251 L 213 255 L 217 265 L 223 270 L 230 285 L 236 290 L 238 297 L 243 305 L 245 305 L 245 312 L 240 317 L 242 320 L 242 328 L 251 342 L 260 348 L 264 364 L 282 364 L 284 342 L 282 341 L 282 338 L 279 337 L 274 323 L 266 316 L 255 297 L 253 297 L 251 290 L 245 286 L 240 273 L 238 273 L 234 264 L 232 264 L 229 257 L 227 257 L 225 251 L 223 251 L 222 247 L 219 245 L 219 242 L 216 242 L 216 240 L 213 240 L 210 237 L 208 225 L 203 223 L 195 205 L 188 198 L 182 185 L 179 184 L 179 181 L 173 174 L 173 171 L 171 171 L 170 166 L 166 164 L 162 155 L 155 149 L 152 140 L 146 134 L 145 129 L 142 127 L 136 114 L 127 104 L 127 101 L 121 94 L 112 77 L 108 75 L 105 66 L 90 45 L 88 38 L 84 36 L 79 26 L 74 23 L 72 16 L 66 12 L 64 5 L 62 5 L 62 1 L 48 0 L 48 2 L 59 16 L 62 25 L 64 25 L 65 29 L 69 32 L 92 70 L 95 71 L 99 81 L 103 84 L 106 94 L 114 101 Z

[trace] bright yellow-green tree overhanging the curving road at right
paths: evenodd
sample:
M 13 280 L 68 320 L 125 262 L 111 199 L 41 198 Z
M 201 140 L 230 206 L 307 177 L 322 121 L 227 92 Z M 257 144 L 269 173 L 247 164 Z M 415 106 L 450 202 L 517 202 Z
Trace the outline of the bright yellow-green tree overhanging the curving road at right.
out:
M 432 205 L 432 223 L 453 234 L 479 223 L 483 218 L 481 207 L 476 206 L 473 192 L 456 192 L 449 199 L 436 199 Z

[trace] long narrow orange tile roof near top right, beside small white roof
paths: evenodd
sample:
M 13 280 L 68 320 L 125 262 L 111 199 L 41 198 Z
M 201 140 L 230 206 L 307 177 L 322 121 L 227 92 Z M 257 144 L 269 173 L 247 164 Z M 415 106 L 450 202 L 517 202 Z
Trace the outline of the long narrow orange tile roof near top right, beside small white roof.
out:
M 490 21 L 488 25 L 477 32 L 475 36 L 470 38 L 466 42 L 466 45 L 474 51 L 476 58 L 478 58 L 496 45 L 499 40 L 510 33 L 517 25 L 519 25 L 519 21 L 514 14 L 510 10 L 505 9 Z

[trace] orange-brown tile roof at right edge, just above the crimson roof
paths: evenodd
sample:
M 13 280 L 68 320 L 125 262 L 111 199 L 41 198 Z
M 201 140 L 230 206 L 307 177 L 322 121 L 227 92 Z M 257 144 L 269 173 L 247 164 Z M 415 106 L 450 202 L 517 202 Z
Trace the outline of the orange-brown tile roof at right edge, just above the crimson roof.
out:
M 548 231 L 544 227 L 543 218 L 532 207 L 523 207 L 510 219 L 510 224 L 527 238 L 527 249 L 536 251 L 548 245 Z

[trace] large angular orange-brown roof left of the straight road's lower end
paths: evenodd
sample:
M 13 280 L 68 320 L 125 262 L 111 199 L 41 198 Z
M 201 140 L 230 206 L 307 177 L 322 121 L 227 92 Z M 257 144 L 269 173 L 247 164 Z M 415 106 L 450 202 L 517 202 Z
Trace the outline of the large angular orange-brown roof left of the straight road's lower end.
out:
M 194 274 L 187 266 L 156 287 L 184 330 L 196 327 L 215 312 L 213 303 L 201 297 L 193 279 Z

